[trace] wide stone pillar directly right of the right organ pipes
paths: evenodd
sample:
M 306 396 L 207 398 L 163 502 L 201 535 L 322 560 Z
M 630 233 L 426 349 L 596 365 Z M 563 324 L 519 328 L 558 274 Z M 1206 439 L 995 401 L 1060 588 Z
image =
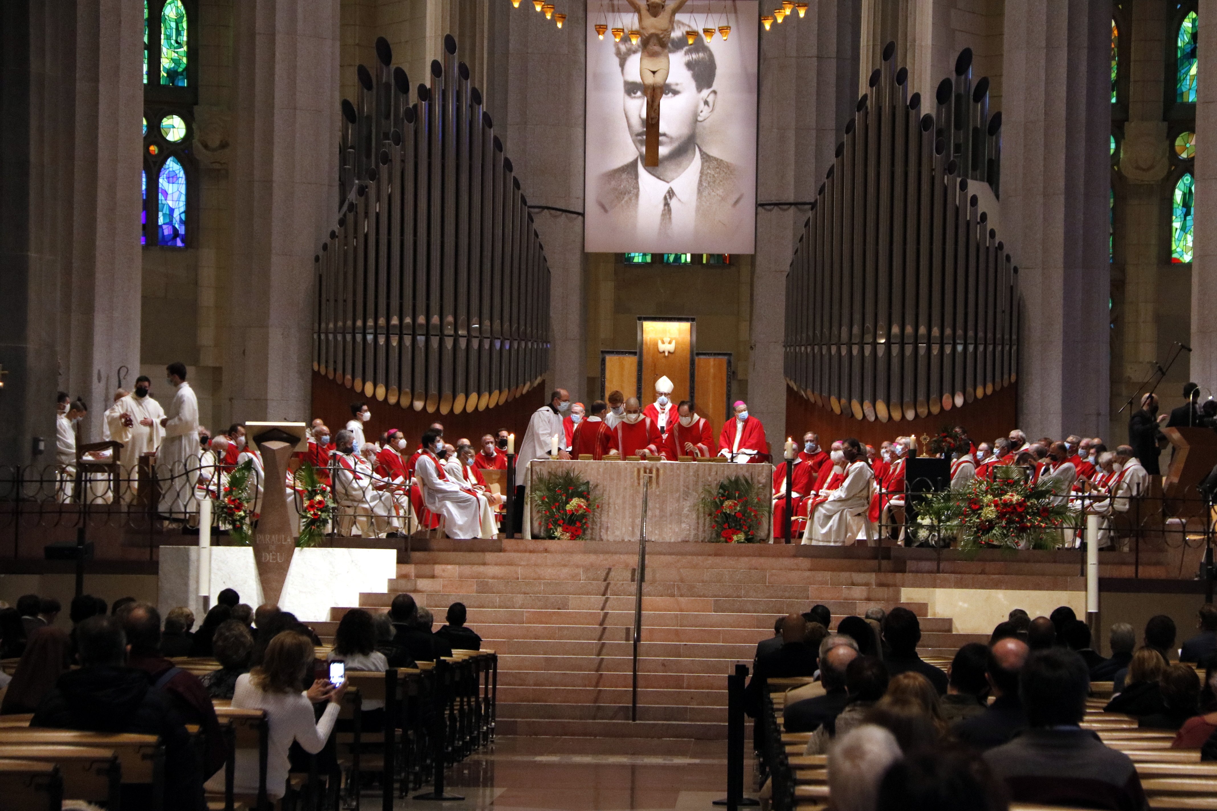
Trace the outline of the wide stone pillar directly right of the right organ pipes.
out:
M 1023 297 L 1027 435 L 1107 428 L 1110 0 L 1008 0 L 1002 218 Z

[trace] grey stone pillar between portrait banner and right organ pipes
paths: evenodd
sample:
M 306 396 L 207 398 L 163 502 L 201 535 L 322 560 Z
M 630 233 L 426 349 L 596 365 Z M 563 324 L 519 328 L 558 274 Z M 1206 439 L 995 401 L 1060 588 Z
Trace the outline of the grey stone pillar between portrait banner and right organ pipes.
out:
M 858 2 L 812 4 L 761 33 L 757 202 L 811 201 L 858 96 Z M 752 280 L 748 411 L 767 427 L 769 444 L 786 435 L 783 377 L 786 271 L 807 207 L 757 208 Z

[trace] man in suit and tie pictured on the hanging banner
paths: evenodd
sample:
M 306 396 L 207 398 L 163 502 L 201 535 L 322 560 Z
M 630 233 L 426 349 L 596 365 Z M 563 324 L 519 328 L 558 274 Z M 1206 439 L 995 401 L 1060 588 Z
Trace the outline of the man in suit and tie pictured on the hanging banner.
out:
M 660 118 L 660 165 L 643 165 L 646 151 L 646 98 L 639 80 L 639 46 L 616 45 L 622 69 L 623 108 L 638 158 L 600 175 L 595 202 L 612 229 L 633 236 L 640 248 L 677 250 L 695 240 L 708 248 L 729 246 L 752 227 L 741 170 L 697 145 L 697 125 L 714 113 L 717 64 L 702 38 L 691 44 L 673 36 Z M 708 249 L 707 248 L 707 249 Z

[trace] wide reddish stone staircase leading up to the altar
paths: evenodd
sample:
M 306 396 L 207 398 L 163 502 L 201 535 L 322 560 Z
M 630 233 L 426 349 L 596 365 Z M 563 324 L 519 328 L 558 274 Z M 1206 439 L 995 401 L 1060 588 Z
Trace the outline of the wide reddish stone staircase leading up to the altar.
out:
M 499 653 L 498 730 L 521 736 L 724 738 L 725 676 L 751 664 L 778 615 L 824 603 L 835 624 L 901 604 L 903 578 L 936 576 L 880 570 L 865 550 L 651 544 L 630 722 L 635 545 L 414 544 L 389 591 L 364 593 L 360 606 L 387 608 L 404 591 L 439 624 L 450 603 L 465 603 L 470 627 Z M 926 603 L 903 604 L 921 616 L 922 653 L 952 655 L 987 638 L 953 632 L 950 618 L 926 616 Z M 332 633 L 344 610 L 333 608 L 318 632 Z

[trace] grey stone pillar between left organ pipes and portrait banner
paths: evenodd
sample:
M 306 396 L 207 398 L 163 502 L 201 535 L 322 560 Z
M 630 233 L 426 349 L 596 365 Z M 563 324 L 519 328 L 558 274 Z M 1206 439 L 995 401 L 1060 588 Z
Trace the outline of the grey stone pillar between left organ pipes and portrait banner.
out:
M 486 108 L 529 205 L 583 210 L 585 7 L 561 29 L 527 4 L 490 6 Z M 587 401 L 583 218 L 534 210 L 549 260 L 553 344 L 545 385 Z

